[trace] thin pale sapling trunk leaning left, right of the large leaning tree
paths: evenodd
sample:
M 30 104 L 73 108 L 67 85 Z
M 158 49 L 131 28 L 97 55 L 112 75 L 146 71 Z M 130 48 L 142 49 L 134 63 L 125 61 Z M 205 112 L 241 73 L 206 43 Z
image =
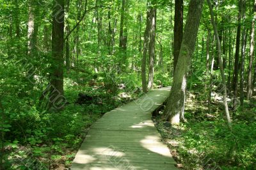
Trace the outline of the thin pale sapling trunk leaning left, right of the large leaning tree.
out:
M 226 77 L 225 77 L 225 72 L 224 72 L 224 68 L 223 68 L 223 61 L 222 61 L 222 57 L 221 57 L 221 43 L 220 43 L 220 38 L 218 36 L 218 29 L 217 26 L 215 24 L 214 21 L 214 14 L 212 11 L 212 4 L 210 0 L 207 0 L 209 9 L 210 9 L 210 13 L 211 13 L 211 22 L 212 22 L 212 26 L 214 29 L 214 34 L 217 40 L 217 47 L 218 47 L 218 60 L 219 60 L 219 65 L 220 65 L 220 72 L 221 72 L 221 79 L 222 79 L 222 91 L 223 91 L 223 104 L 225 106 L 225 112 L 226 112 L 226 116 L 227 116 L 227 122 L 228 122 L 228 126 L 231 127 L 230 123 L 231 123 L 231 119 L 230 119 L 230 115 L 229 115 L 229 111 L 228 111 L 228 104 L 227 104 L 227 87 L 226 87 Z

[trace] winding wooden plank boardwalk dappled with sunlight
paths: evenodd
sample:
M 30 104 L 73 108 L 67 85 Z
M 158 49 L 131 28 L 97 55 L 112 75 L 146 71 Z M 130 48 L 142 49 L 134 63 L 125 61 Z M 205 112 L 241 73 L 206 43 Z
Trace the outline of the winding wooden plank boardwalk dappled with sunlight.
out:
M 110 111 L 92 125 L 71 169 L 177 169 L 168 147 L 152 122 L 152 112 L 170 88 L 154 89 Z

